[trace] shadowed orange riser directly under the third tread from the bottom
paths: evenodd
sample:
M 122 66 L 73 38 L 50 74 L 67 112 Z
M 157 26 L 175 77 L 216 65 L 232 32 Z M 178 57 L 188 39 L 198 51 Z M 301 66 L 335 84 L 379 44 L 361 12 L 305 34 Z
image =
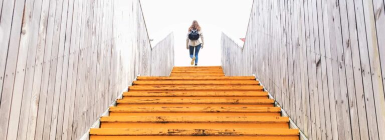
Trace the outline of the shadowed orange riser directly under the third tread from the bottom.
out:
M 109 116 L 281 116 L 280 112 L 110 112 Z

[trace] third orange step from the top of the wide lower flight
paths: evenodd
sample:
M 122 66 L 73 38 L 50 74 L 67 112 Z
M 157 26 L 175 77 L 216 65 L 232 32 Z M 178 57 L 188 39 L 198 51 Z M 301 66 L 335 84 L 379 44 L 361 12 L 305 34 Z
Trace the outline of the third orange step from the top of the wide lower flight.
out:
M 263 90 L 260 85 L 132 85 L 129 90 Z

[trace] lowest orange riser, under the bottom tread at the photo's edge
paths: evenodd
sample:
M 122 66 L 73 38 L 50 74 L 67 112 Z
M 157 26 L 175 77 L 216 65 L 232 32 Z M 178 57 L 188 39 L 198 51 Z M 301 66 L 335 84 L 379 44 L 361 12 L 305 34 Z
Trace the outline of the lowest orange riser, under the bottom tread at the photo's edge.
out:
M 91 140 L 109 140 L 109 139 L 156 139 L 156 140 L 197 140 L 197 139 L 211 139 L 211 140 L 298 140 L 298 136 L 115 136 L 115 135 L 91 135 Z

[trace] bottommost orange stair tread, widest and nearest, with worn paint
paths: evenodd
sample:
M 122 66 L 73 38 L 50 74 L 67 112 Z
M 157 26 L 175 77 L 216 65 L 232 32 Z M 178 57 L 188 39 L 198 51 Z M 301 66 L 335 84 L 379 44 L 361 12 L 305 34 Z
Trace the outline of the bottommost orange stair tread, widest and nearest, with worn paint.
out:
M 91 128 L 91 135 L 298 135 L 298 129 Z

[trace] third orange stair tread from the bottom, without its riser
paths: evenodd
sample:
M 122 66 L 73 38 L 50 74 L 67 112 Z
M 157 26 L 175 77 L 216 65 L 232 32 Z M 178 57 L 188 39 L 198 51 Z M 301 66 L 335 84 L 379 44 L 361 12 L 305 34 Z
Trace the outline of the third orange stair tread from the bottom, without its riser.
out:
M 161 106 L 110 106 L 110 112 L 281 112 L 280 107 L 255 106 L 192 106 L 192 107 L 161 107 Z

